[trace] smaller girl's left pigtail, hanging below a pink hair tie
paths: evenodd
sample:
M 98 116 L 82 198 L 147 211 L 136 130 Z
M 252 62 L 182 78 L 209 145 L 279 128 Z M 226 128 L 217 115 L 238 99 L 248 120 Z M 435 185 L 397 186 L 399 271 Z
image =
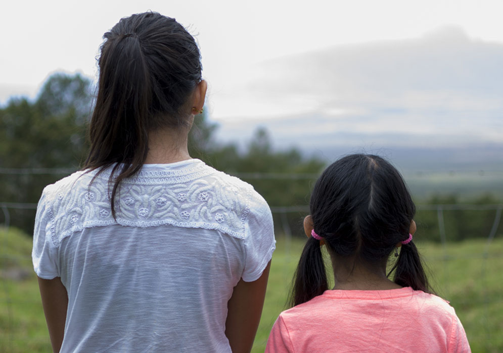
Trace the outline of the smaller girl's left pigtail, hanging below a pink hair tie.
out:
M 328 289 L 327 273 L 319 241 L 310 237 L 300 256 L 290 295 L 292 307 L 305 303 Z

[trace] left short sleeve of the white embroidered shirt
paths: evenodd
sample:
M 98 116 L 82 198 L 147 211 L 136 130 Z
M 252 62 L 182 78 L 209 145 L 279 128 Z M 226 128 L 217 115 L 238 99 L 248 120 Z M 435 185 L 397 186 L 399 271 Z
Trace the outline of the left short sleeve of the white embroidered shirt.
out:
M 35 273 L 43 279 L 60 276 L 58 251 L 52 239 L 53 211 L 48 194 L 48 188 L 45 188 L 38 202 L 31 251 Z

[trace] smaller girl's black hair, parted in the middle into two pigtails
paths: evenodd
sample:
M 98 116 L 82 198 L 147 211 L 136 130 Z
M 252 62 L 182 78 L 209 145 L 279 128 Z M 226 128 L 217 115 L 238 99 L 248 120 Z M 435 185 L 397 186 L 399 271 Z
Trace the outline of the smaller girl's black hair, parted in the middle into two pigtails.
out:
M 314 231 L 334 254 L 378 264 L 408 238 L 416 206 L 390 163 L 375 155 L 353 154 L 334 162 L 319 177 L 310 212 Z M 414 242 L 402 245 L 394 269 L 395 283 L 431 292 Z M 291 305 L 327 289 L 320 242 L 310 237 L 295 274 Z

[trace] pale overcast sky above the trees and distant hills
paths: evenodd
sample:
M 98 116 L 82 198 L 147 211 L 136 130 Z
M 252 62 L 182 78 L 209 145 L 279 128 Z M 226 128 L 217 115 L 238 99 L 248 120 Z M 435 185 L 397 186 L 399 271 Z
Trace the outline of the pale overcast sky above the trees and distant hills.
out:
M 57 71 L 95 79 L 103 33 L 147 10 L 196 37 L 223 139 L 503 144 L 497 0 L 3 2 L 0 104 Z

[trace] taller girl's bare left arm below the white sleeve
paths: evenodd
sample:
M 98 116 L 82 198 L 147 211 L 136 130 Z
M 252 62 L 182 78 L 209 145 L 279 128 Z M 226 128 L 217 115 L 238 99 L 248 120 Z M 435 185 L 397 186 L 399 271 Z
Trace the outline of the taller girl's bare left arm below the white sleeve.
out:
M 65 333 L 68 293 L 60 277 L 54 279 L 37 278 L 49 337 L 51 337 L 53 351 L 57 353 L 60 351 Z

